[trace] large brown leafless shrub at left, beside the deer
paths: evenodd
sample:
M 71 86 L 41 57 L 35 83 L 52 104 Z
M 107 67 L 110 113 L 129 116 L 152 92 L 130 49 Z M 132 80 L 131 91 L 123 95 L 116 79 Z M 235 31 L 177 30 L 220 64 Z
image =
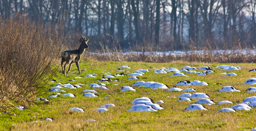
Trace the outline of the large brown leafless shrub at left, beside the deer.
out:
M 0 109 L 27 104 L 55 72 L 52 64 L 65 38 L 61 28 L 44 27 L 26 17 L 0 19 Z

